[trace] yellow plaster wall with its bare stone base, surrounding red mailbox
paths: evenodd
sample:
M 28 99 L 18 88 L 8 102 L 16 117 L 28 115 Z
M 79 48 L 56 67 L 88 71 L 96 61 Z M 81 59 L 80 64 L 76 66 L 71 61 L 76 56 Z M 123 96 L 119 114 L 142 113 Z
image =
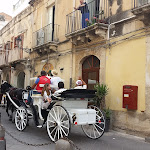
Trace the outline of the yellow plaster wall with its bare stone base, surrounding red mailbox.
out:
M 140 136 L 150 134 L 148 43 L 149 37 L 139 37 L 116 44 L 106 52 L 106 84 L 109 87 L 106 104 L 113 110 L 113 128 Z M 138 86 L 137 111 L 122 108 L 123 85 Z

